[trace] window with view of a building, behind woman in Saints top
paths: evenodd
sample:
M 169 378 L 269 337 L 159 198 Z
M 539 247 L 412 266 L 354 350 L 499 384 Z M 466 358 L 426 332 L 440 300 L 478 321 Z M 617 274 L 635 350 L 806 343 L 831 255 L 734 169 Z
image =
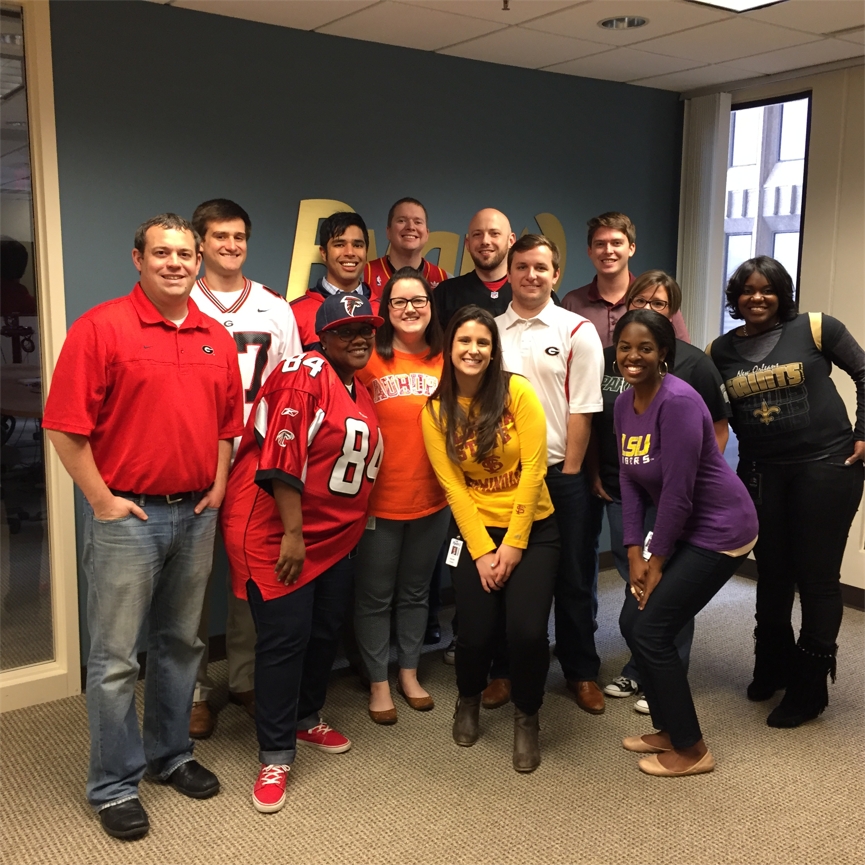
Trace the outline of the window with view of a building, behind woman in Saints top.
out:
M 736 326 L 723 289 L 757 255 L 777 258 L 798 289 L 810 96 L 734 109 L 730 122 L 724 214 L 721 332 Z

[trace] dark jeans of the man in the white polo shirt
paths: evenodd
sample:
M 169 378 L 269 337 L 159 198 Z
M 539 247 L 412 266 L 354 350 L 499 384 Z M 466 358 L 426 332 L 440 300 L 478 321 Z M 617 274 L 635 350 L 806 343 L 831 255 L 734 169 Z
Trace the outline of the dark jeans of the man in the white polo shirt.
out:
M 556 509 L 562 554 L 556 575 L 556 657 L 569 681 L 597 679 L 601 659 L 595 649 L 597 583 L 594 549 L 586 528 L 591 495 L 585 472 L 547 469 L 547 489 Z

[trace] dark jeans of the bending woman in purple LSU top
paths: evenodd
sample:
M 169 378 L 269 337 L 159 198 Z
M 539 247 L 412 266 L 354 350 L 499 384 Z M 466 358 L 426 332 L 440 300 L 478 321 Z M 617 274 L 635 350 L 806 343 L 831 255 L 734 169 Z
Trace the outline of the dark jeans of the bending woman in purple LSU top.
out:
M 645 609 L 638 609 L 630 592 L 622 607 L 619 627 L 637 661 L 652 723 L 669 733 L 674 748 L 690 748 L 703 738 L 688 673 L 676 651 L 676 635 L 715 597 L 744 558 L 681 543 L 667 560 Z

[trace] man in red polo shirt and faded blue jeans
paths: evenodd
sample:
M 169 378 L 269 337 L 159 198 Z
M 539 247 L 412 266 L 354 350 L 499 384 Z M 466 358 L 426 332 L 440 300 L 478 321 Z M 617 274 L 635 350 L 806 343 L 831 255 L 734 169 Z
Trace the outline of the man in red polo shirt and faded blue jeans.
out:
M 81 488 L 87 576 L 87 798 L 103 829 L 140 838 L 145 771 L 194 799 L 219 792 L 193 759 L 189 713 L 216 515 L 243 431 L 237 349 L 189 293 L 201 240 L 171 213 L 135 234 L 132 293 L 69 329 L 43 426 Z M 135 712 L 147 624 L 144 737 Z

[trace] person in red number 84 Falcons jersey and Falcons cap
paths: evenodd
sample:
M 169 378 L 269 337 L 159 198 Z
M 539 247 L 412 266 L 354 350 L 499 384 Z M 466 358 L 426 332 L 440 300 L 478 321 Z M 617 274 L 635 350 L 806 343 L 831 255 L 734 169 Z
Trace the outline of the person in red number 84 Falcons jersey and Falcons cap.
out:
M 229 478 L 225 548 L 258 633 L 252 798 L 264 813 L 285 803 L 297 740 L 331 754 L 351 747 L 320 711 L 382 457 L 372 397 L 355 380 L 381 323 L 353 293 L 318 306 L 321 351 L 291 358 L 264 383 Z

